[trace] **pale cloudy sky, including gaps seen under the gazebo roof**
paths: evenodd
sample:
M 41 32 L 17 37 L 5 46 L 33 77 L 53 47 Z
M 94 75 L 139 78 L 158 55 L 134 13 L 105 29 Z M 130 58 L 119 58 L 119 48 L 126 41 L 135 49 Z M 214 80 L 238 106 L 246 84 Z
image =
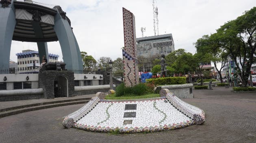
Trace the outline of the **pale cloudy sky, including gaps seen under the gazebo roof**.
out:
M 21 0 L 18 0 L 21 1 Z M 60 5 L 71 20 L 80 51 L 115 60 L 124 46 L 122 7 L 135 15 L 136 35 L 154 36 L 152 0 L 33 0 L 35 4 Z M 155 0 L 158 7 L 159 35 L 172 34 L 175 49 L 195 53 L 194 42 L 205 34 L 215 32 L 229 20 L 243 15 L 256 6 L 255 0 Z M 36 3 L 39 2 L 39 3 Z M 41 4 L 43 5 L 43 4 Z M 12 41 L 10 59 L 16 53 L 37 50 L 37 44 Z M 48 42 L 48 52 L 62 59 L 59 42 Z

